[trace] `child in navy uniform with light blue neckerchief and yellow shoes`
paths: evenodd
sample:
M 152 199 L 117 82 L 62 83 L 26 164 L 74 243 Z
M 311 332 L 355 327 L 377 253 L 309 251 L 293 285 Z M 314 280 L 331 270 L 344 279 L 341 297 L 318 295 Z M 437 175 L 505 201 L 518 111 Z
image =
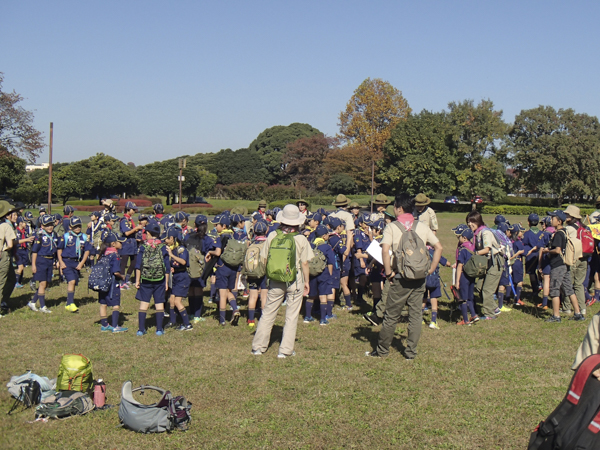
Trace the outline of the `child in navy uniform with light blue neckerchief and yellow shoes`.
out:
M 75 286 L 79 283 L 80 270 L 85 265 L 92 246 L 88 235 L 81 232 L 81 219 L 71 217 L 69 231 L 60 237 L 58 241 L 58 262 L 67 280 L 67 305 L 65 309 L 69 312 L 77 312 L 79 308 L 75 305 Z

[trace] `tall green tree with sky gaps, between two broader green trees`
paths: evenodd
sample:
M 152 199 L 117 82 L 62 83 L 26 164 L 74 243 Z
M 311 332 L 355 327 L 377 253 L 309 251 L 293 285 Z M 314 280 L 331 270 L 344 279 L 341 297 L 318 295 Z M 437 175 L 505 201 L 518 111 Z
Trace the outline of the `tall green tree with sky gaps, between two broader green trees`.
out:
M 506 194 L 506 169 L 499 160 L 507 125 L 502 111 L 491 100 L 475 105 L 473 100 L 448 105 L 452 146 L 456 148 L 458 192 L 464 196 L 485 195 L 492 199 Z

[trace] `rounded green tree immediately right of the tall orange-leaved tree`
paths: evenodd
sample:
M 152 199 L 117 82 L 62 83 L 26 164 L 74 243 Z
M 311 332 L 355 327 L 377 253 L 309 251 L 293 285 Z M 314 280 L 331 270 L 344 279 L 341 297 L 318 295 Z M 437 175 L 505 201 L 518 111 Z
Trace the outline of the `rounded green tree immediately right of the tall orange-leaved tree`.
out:
M 456 147 L 446 114 L 426 110 L 399 122 L 383 148 L 384 191 L 456 193 Z

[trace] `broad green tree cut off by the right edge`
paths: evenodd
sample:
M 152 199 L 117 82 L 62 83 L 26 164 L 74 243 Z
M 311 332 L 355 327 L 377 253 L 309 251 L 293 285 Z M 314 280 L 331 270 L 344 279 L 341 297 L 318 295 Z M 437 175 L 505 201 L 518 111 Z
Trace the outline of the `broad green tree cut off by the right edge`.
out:
M 551 106 L 523 110 L 508 139 L 508 158 L 522 188 L 577 200 L 600 193 L 598 118 Z

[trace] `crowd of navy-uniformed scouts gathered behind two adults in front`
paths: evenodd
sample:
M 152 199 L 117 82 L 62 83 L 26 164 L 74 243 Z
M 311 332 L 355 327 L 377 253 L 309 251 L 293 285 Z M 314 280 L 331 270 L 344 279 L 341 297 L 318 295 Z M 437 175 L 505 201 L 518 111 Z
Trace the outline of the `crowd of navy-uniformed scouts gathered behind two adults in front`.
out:
M 429 199 L 419 194 L 416 200 L 415 219 L 429 227 L 435 224 L 437 229 L 435 213 L 427 207 Z M 364 318 L 373 325 L 382 323 L 389 282 L 381 259 L 376 258 L 376 249 L 381 249 L 385 227 L 396 220 L 386 210 L 390 203 L 379 194 L 373 203 L 375 213 L 369 215 L 362 214 L 359 205 L 344 195 L 335 199 L 337 210 L 331 212 L 322 208 L 311 212 L 307 201 L 298 201 L 303 217 L 298 231 L 315 255 L 309 264 L 304 323 L 318 320 L 320 325 L 329 325 L 337 318 L 333 307 L 338 298 L 341 311 L 349 312 L 353 305 L 366 304 L 369 290 L 373 302 Z M 16 237 L 12 249 L 15 288 L 23 288 L 24 268 L 31 265 L 30 286 L 35 293 L 28 307 L 50 313 L 45 303 L 46 290 L 58 270 L 67 284 L 65 308 L 77 312 L 75 291 L 82 269 L 106 258 L 114 278 L 109 292 L 99 295 L 101 331 L 127 331 L 119 325 L 120 291 L 133 286 L 140 302 L 138 335 L 147 332 L 146 315 L 152 300 L 157 335 L 164 334 L 166 328 L 192 330 L 194 324 L 205 320 L 203 297 L 208 280 L 209 301 L 217 305 L 219 324 L 225 326 L 228 320 L 232 325 L 238 324 L 241 294 L 248 301 L 247 326 L 254 328 L 264 310 L 269 286 L 261 248 L 280 227 L 276 218 L 281 209 L 268 210 L 266 202 L 261 201 L 250 217 L 225 211 L 211 220 L 210 231 L 209 219 L 204 215 L 196 216 L 190 224 L 190 216 L 183 211 L 174 216 L 164 214 L 160 204 L 154 205 L 153 210 L 151 215 L 136 217 L 138 208 L 127 202 L 124 216 L 119 217 L 106 202 L 103 211 L 90 214 L 85 231 L 71 206 L 64 208 L 63 216 L 47 214 L 44 208 L 40 208 L 37 218 L 30 212 L 7 214 L 2 222 L 11 225 Z M 457 325 L 495 319 L 510 312 L 511 304 L 523 307 L 525 274 L 529 276 L 531 300 L 537 308 L 548 309 L 551 299 L 549 322 L 560 322 L 561 311 L 574 312 L 573 320 L 585 320 L 586 306 L 600 299 L 600 245 L 592 240 L 592 250 L 584 245 L 585 251 L 577 253 L 582 248 L 581 240 L 587 238 L 586 230 L 589 232 L 579 209 L 571 205 L 565 211 L 551 211 L 542 219 L 530 214 L 528 229 L 510 224 L 501 215 L 494 222 L 489 228 L 479 212 L 469 213 L 464 224 L 452 228 L 458 240 L 456 262 L 445 258 L 440 261 L 455 269 L 451 292 L 461 313 Z M 568 261 L 566 252 L 575 241 L 580 244 L 575 245 L 576 254 Z M 433 248 L 429 250 L 433 255 Z M 595 287 L 594 297 L 589 294 L 590 284 Z M 426 279 L 423 298 L 423 311 L 431 308 L 432 329 L 440 328 L 437 315 L 442 290 L 446 291 L 446 285 L 436 268 Z M 450 300 L 447 291 L 446 296 Z M 482 301 L 480 314 L 476 297 Z M 189 309 L 184 305 L 185 298 Z M 169 307 L 165 308 L 167 302 Z M 227 320 L 228 309 L 231 312 Z M 169 320 L 163 323 L 165 316 Z M 178 316 L 181 325 L 177 325 Z

